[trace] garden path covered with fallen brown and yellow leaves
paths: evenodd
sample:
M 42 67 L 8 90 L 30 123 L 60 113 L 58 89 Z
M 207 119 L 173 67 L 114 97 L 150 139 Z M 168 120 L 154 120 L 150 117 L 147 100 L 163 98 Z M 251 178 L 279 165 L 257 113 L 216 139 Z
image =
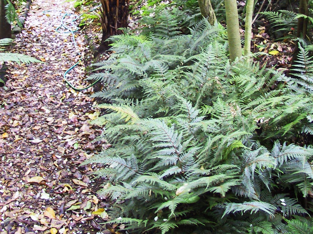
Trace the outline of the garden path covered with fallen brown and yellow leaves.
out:
M 1 234 L 110 233 L 99 224 L 107 217 L 95 193 L 100 182 L 90 183 L 93 168 L 80 167 L 96 152 L 90 142 L 99 130 L 88 122 L 92 88 L 75 92 L 63 81 L 87 50 L 83 34 L 75 47 L 70 34 L 55 31 L 65 12 L 73 13 L 71 3 L 32 4 L 12 52 L 45 63 L 9 64 L 8 90 L 0 90 Z M 80 64 L 68 79 L 78 85 L 84 72 Z

